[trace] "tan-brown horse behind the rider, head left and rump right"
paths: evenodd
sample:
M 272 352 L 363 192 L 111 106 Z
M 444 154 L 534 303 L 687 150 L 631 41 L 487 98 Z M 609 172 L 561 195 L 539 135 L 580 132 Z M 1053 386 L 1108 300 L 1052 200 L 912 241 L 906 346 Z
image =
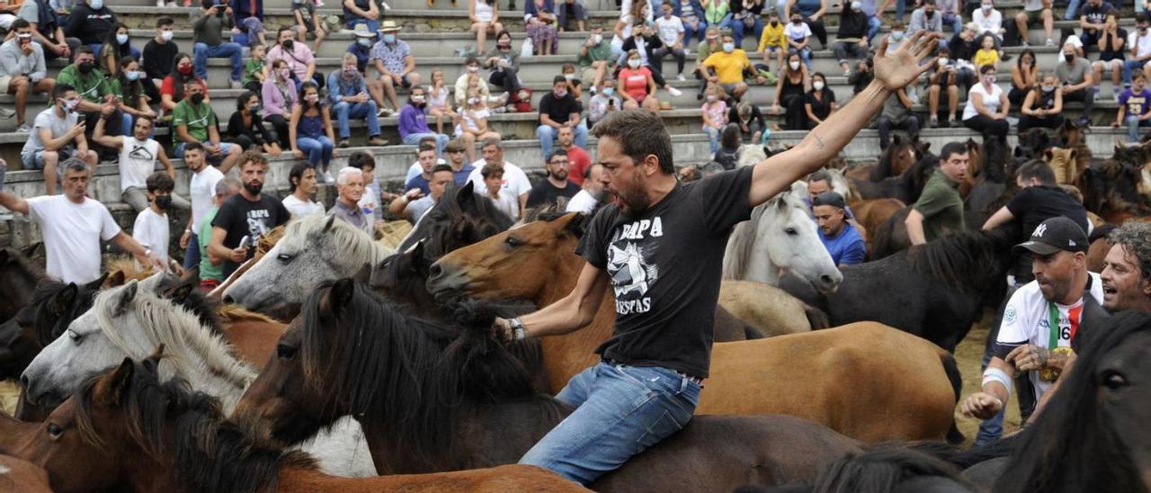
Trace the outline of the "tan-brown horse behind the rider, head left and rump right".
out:
M 585 264 L 574 253 L 578 222 L 577 214 L 536 221 L 456 250 L 432 266 L 428 288 L 555 303 Z M 603 296 L 589 326 L 541 339 L 552 392 L 599 363 L 594 350 L 612 334 L 616 314 L 611 294 Z M 939 439 L 953 423 L 953 372 L 946 351 L 881 324 L 716 343 L 696 411 L 787 414 L 866 441 Z

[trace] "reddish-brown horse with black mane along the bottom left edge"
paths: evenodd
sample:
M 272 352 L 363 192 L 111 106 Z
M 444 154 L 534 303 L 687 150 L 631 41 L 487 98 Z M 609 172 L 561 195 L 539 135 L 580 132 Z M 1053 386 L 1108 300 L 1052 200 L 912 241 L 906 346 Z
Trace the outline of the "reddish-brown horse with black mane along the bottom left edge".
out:
M 584 492 L 540 468 L 337 478 L 298 450 L 268 440 L 259 423 L 224 419 L 220 403 L 178 379 L 161 382 L 153 359 L 124 362 L 90 380 L 45 424 L 2 422 L 10 452 L 48 471 L 55 491 L 137 492 Z M 17 438 L 14 440 L 13 438 Z

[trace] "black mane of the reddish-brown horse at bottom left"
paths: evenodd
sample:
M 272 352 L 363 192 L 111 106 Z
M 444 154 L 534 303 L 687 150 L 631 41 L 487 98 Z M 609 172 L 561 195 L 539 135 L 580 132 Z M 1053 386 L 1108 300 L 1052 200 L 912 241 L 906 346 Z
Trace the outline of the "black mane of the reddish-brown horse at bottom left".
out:
M 145 453 L 155 458 L 169 453 L 171 485 L 190 492 L 275 491 L 281 468 L 318 469 L 306 453 L 284 450 L 272 441 L 266 425 L 251 419 L 230 422 L 219 400 L 192 392 L 180 378 L 160 381 L 154 364 L 131 364 L 135 371 L 120 402 L 125 425 Z M 89 379 L 76 394 L 77 428 L 99 448 L 105 443 L 93 427 L 92 409 L 101 378 Z

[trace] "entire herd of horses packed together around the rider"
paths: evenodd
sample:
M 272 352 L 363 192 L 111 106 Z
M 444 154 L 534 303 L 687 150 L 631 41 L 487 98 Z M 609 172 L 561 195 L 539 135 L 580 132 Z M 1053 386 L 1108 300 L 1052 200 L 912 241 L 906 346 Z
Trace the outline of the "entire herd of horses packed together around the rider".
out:
M 1077 131 L 1065 128 L 1060 144 L 1082 143 Z M 969 214 L 985 219 L 1005 203 L 1020 159 L 1059 156 L 1075 160 L 1084 203 L 1103 204 L 1092 212 L 1144 215 L 1138 180 L 1151 146 L 1096 160 L 1051 144 L 1028 137 L 1013 156 L 969 142 Z M 975 227 L 900 248 L 895 218 L 935 161 L 910 138 L 874 167 L 832 169 L 868 232 L 871 261 L 859 266 L 831 263 L 801 187 L 739 225 L 698 416 L 588 487 L 1151 490 L 1143 314 L 1114 318 L 1024 431 L 955 448 L 952 352 L 1001 299 L 989 287 L 1001 285 L 1019 232 Z M 63 285 L 28 252 L 0 249 L 0 290 L 10 294 L 0 299 L 0 379 L 21 382 L 15 418 L 0 414 L 0 485 L 584 491 L 516 462 L 571 412 L 551 395 L 597 363 L 613 303 L 567 335 L 491 337 L 494 317 L 556 302 L 582 265 L 586 217 L 532 219 L 513 225 L 471 185 L 445 194 L 399 242 L 307 218 L 262 238 L 257 258 L 209 294 L 195 272 Z

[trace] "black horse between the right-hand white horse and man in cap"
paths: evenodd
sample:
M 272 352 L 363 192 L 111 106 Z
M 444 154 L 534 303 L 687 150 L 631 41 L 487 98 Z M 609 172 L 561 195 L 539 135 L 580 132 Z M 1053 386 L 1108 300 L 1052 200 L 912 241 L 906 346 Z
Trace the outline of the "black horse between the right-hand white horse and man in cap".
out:
M 1004 296 L 1014 227 L 944 236 L 882 260 L 843 267 L 830 295 L 787 275 L 780 288 L 824 310 L 832 326 L 874 320 L 954 351 L 985 303 Z

